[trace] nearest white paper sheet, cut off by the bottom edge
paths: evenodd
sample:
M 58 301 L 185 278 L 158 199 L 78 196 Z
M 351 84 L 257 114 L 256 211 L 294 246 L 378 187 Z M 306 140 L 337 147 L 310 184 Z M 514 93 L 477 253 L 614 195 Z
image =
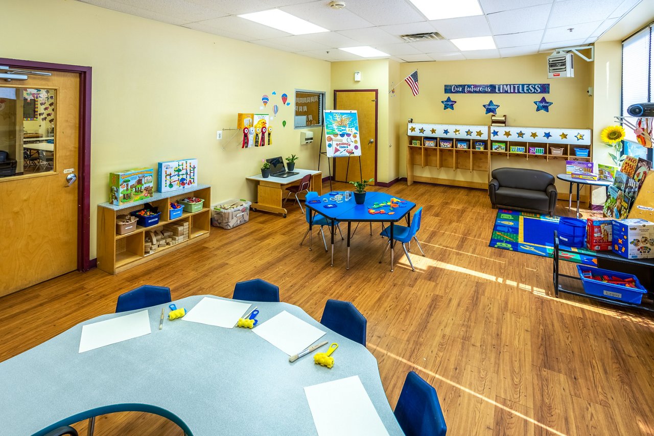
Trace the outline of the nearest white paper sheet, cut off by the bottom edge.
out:
M 318 436 L 388 435 L 358 375 L 304 388 Z

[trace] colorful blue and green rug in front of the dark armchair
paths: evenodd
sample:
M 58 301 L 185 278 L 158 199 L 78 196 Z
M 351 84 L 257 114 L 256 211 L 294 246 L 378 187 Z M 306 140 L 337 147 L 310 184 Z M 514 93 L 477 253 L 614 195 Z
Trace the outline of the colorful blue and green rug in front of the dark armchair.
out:
M 489 246 L 552 258 L 554 256 L 554 231 L 558 228 L 558 216 L 500 209 L 495 218 Z M 563 244 L 560 244 L 560 248 L 572 251 L 572 253 L 560 252 L 561 260 L 584 265 L 597 265 L 597 259 L 591 250 L 581 247 L 570 248 Z

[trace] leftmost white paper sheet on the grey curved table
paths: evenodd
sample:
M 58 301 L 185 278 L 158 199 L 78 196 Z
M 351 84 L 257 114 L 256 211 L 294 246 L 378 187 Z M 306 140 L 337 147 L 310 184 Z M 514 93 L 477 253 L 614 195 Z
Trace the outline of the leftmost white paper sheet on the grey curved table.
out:
M 83 353 L 150 333 L 150 317 L 147 310 L 86 324 L 82 326 L 79 352 Z

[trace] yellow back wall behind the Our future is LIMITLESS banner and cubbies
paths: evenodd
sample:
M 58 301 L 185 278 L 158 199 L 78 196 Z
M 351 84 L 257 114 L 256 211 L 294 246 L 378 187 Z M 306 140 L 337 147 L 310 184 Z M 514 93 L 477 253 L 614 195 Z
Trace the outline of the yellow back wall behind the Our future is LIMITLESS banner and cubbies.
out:
M 413 96 L 406 84 L 400 84 L 400 116 L 398 123 L 402 144 L 400 150 L 400 175 L 406 175 L 406 122 L 433 124 L 479 124 L 489 125 L 490 115 L 485 114 L 482 105 L 492 100 L 500 105 L 498 115 L 506 114 L 508 126 L 525 127 L 563 127 L 590 129 L 593 127 L 592 101 L 587 95 L 591 86 L 592 62 L 575 58 L 574 78 L 547 78 L 547 54 L 518 56 L 502 59 L 478 59 L 465 61 L 440 61 L 403 63 L 400 65 L 400 78 L 411 74 L 416 68 L 419 73 L 420 93 Z M 445 84 L 512 84 L 549 83 L 549 94 L 445 94 Z M 443 110 L 441 100 L 450 96 L 457 103 L 455 110 Z M 534 101 L 543 95 L 553 101 L 549 112 L 536 112 Z M 542 169 L 553 175 L 565 172 L 565 162 L 545 162 L 524 158 L 492 158 L 491 169 L 497 167 L 528 167 Z M 436 169 L 436 167 L 414 167 L 417 176 L 470 180 L 485 184 L 484 171 Z M 559 182 L 559 192 L 568 192 L 568 184 Z

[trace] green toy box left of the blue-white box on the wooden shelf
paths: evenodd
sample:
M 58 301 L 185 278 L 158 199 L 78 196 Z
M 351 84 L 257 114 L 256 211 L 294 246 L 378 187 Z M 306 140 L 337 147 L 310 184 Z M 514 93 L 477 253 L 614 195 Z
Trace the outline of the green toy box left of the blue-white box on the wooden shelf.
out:
M 154 169 L 135 168 L 109 173 L 109 203 L 125 205 L 152 197 Z

